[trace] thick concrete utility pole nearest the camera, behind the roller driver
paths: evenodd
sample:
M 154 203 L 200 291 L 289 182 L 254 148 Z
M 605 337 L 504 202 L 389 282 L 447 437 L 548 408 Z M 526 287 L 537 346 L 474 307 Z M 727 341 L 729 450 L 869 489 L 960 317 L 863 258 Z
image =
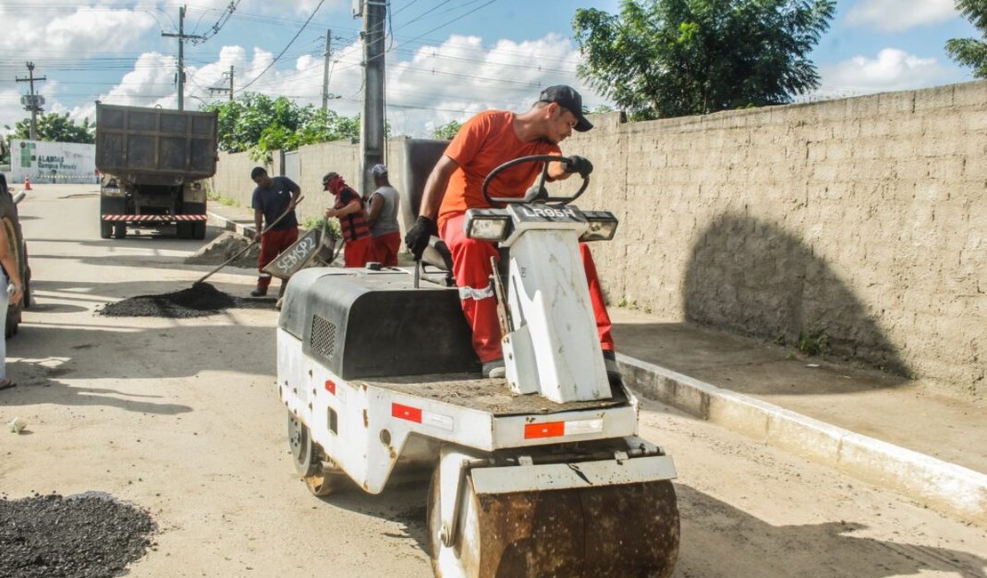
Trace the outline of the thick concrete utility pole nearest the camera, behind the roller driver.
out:
M 363 5 L 363 118 L 360 150 L 363 193 L 373 190 L 370 167 L 384 162 L 384 22 L 385 0 L 360 0 Z

